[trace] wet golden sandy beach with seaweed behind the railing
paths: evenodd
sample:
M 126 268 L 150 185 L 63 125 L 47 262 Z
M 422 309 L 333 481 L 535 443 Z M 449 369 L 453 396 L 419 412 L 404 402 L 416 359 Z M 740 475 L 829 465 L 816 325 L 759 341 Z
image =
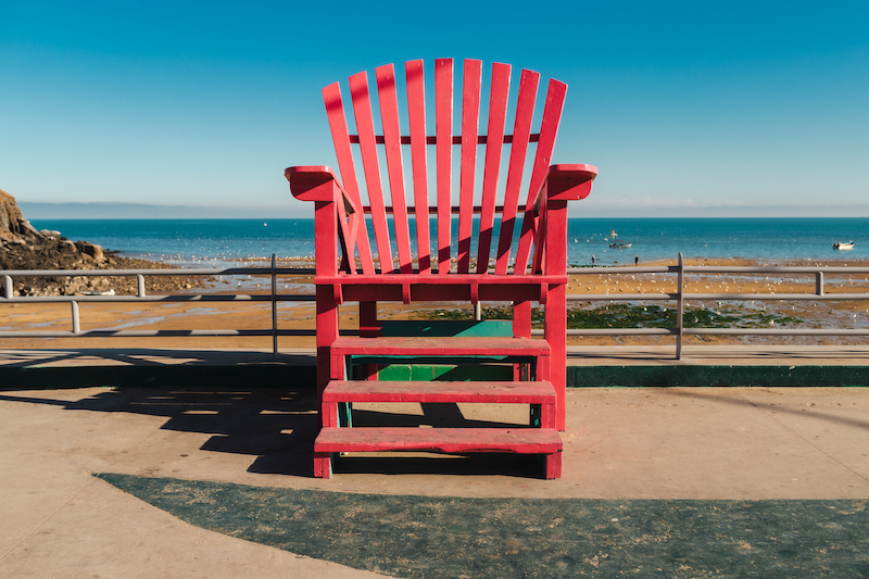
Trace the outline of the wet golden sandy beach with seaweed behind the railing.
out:
M 770 265 L 747 260 L 689 260 L 688 265 Z M 641 263 L 641 265 L 675 265 L 675 262 Z M 808 263 L 780 263 L 779 265 L 817 265 Z M 858 261 L 824 262 L 830 266 L 861 266 Z M 571 275 L 568 293 L 605 294 L 675 292 L 675 274 L 617 274 Z M 616 275 L 617 274 L 617 275 Z M 280 293 L 311 293 L 310 276 L 293 279 L 294 284 L 282 286 Z M 262 289 L 251 293 L 266 293 L 267 280 Z M 225 293 L 222 282 L 215 284 L 211 293 Z M 687 292 L 739 292 L 739 293 L 814 293 L 815 278 L 811 275 L 766 274 L 691 274 L 685 276 Z M 192 290 L 197 292 L 200 290 Z M 247 291 L 247 290 L 245 290 Z M 826 293 L 869 292 L 869 274 L 826 276 Z M 608 302 L 595 302 L 593 306 Z M 652 302 L 648 302 L 652 303 Z M 663 307 L 675 307 L 675 302 L 655 302 Z M 869 301 L 757 301 L 757 302 L 697 302 L 689 299 L 689 306 L 707 309 L 730 307 L 740 311 L 774 312 L 782 316 L 797 317 L 807 327 L 864 327 L 869 324 Z M 487 305 L 487 304 L 483 304 Z M 575 304 L 589 307 L 588 303 Z M 12 303 L 0 304 L 3 322 L 0 329 L 32 331 L 68 331 L 72 329 L 68 303 Z M 270 329 L 272 306 L 268 302 L 193 302 L 193 303 L 80 303 L 83 330 L 137 329 L 137 330 L 193 330 L 193 329 Z M 380 316 L 386 319 L 427 317 L 432 310 L 463 307 L 454 303 L 383 304 Z M 464 306 L 469 310 L 469 306 Z M 313 330 L 314 304 L 311 302 L 282 302 L 278 304 L 278 327 L 289 330 Z M 355 304 L 341 307 L 341 327 L 356 327 L 358 311 Z M 667 344 L 671 337 L 570 337 L 571 344 L 606 345 L 618 343 Z M 688 337 L 694 343 L 867 343 L 865 338 L 839 337 Z M 769 340 L 773 340 L 770 342 Z M 688 343 L 692 343 L 689 341 Z M 212 349 L 270 349 L 270 337 L 149 337 L 149 338 L 0 338 L 3 349 L 46 348 L 212 348 Z M 280 349 L 305 349 L 314 347 L 314 338 L 307 336 L 282 336 Z

